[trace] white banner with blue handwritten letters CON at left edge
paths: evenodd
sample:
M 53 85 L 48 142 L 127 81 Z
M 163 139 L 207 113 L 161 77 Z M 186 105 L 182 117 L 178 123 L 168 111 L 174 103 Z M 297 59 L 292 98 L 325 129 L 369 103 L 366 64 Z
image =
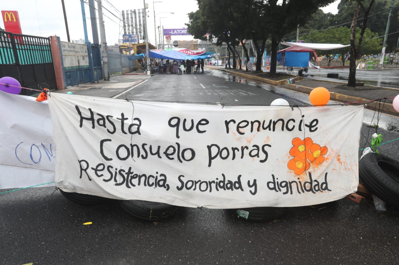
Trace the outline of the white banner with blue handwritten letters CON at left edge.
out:
M 0 189 L 53 182 L 55 150 L 47 101 L 0 91 Z M 54 185 L 50 183 L 41 187 Z

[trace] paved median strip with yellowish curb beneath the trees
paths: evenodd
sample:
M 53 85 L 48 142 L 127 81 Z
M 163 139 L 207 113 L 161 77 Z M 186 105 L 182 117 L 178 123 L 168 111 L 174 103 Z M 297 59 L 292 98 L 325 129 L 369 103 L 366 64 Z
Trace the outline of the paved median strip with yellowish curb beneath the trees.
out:
M 269 80 L 266 78 L 261 78 L 259 76 L 255 76 L 253 74 L 249 74 L 245 71 L 235 71 L 229 70 L 226 68 L 221 67 L 211 67 L 207 66 L 211 69 L 221 70 L 223 72 L 227 72 L 229 74 L 234 74 L 236 76 L 241 76 L 246 78 L 247 80 L 255 80 L 259 82 L 263 82 L 266 84 L 271 84 L 274 86 L 283 86 L 284 88 L 294 90 L 297 92 L 301 92 L 304 94 L 310 94 L 310 92 L 317 87 L 327 88 L 330 91 L 330 100 L 338 101 L 340 103 L 352 103 L 352 102 L 359 102 L 365 101 L 367 103 L 367 109 L 375 109 L 377 105 L 377 109 L 379 108 L 380 111 L 384 113 L 388 113 L 391 115 L 399 116 L 399 112 L 395 111 L 392 106 L 393 98 L 399 95 L 399 84 L 398 88 L 383 88 L 377 86 L 357 86 L 356 88 L 346 86 L 347 83 L 343 82 L 336 82 L 334 78 L 331 78 L 331 81 L 326 80 L 316 80 L 316 79 L 306 79 L 306 77 L 299 77 L 293 74 L 286 74 L 292 76 L 292 78 L 296 79 L 295 84 L 287 84 L 287 80 Z M 383 98 L 390 98 L 386 99 L 384 103 Z M 377 102 L 371 102 L 372 100 L 382 99 L 381 106 Z

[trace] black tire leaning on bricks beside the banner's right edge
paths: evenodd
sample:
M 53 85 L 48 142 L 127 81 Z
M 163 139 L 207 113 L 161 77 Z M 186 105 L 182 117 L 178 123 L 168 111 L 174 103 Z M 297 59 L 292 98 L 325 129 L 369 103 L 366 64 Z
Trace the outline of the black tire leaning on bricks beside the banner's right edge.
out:
M 399 162 L 368 153 L 359 162 L 359 179 L 387 205 L 399 209 Z

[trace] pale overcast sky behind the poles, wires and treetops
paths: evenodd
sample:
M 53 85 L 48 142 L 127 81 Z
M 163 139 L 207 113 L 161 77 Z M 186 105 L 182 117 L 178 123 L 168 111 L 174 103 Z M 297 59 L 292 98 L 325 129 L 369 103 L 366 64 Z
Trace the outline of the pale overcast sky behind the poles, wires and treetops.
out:
M 81 0 L 64 0 L 64 2 L 71 41 L 84 39 L 85 35 L 83 30 Z M 85 2 L 88 3 L 88 0 L 85 0 Z M 325 13 L 331 12 L 336 14 L 338 12 L 337 6 L 339 2 L 340 1 L 337 0 L 330 6 L 323 8 L 323 11 Z M 119 39 L 122 39 L 122 10 L 142 9 L 144 8 L 144 2 L 142 0 L 102 0 L 102 3 L 104 7 L 103 14 L 107 44 L 114 45 L 118 43 Z M 196 0 L 163 0 L 162 2 L 146 1 L 146 3 L 148 3 L 148 38 L 152 44 L 155 44 L 154 10 L 156 14 L 155 21 L 157 27 L 160 25 L 160 18 L 162 18 L 161 23 L 164 28 L 181 29 L 186 27 L 184 25 L 185 23 L 188 23 L 187 14 L 198 9 Z M 61 41 L 67 41 L 61 0 L 2 0 L 0 8 L 1 10 L 18 11 L 22 34 L 43 37 L 57 35 L 61 38 Z M 97 9 L 97 2 L 95 2 L 95 8 Z M 169 12 L 174 12 L 174 14 L 170 14 Z M 85 17 L 87 19 L 88 38 L 93 42 L 88 4 L 85 4 Z M 2 19 L 0 25 L 4 29 Z M 158 39 L 158 29 L 156 29 L 156 32 Z M 172 36 L 172 41 L 184 39 L 192 39 L 192 37 Z

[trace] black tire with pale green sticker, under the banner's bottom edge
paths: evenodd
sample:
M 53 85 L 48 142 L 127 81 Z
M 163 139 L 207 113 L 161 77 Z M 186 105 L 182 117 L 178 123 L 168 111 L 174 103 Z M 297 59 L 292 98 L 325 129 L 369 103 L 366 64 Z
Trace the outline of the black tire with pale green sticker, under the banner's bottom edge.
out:
M 233 214 L 242 218 L 244 220 L 253 222 L 268 222 L 276 220 L 283 216 L 286 212 L 286 208 L 283 207 L 253 207 L 253 208 L 239 208 L 239 209 L 229 209 Z M 241 213 L 246 215 L 248 213 L 248 218 L 240 216 Z

